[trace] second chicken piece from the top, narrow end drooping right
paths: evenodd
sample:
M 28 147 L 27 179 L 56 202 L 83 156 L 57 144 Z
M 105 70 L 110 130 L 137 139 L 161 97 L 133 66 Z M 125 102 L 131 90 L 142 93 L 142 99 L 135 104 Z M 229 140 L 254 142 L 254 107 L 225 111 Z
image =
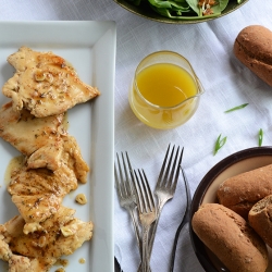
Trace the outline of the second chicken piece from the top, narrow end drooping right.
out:
M 14 111 L 9 102 L 0 109 L 0 137 L 27 157 L 27 169 L 55 171 L 65 164 L 79 182 L 86 183 L 89 168 L 76 139 L 67 135 L 64 122 L 63 114 L 38 119 L 25 109 Z

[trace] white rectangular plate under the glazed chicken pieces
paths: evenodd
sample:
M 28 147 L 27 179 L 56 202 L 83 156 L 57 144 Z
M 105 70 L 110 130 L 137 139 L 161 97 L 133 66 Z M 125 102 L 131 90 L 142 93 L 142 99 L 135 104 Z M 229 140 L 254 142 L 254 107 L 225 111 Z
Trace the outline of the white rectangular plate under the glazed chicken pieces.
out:
M 66 59 L 82 81 L 98 87 L 100 97 L 69 110 L 69 133 L 77 139 L 91 169 L 88 183 L 64 198 L 63 205 L 76 209 L 76 217 L 91 220 L 94 237 L 67 259 L 66 272 L 113 271 L 113 150 L 114 150 L 114 75 L 116 27 L 114 22 L 1 22 L 0 85 L 12 77 L 14 69 L 8 55 L 27 46 L 38 51 L 52 51 Z M 0 104 L 9 101 L 0 92 Z M 16 215 L 17 209 L 7 191 L 5 171 L 18 152 L 0 138 L 0 224 Z M 78 193 L 88 203 L 75 203 Z M 84 258 L 86 262 L 79 263 Z M 53 267 L 50 271 L 55 271 Z M 0 271 L 7 264 L 0 261 Z M 8 270 L 7 270 L 8 271 Z

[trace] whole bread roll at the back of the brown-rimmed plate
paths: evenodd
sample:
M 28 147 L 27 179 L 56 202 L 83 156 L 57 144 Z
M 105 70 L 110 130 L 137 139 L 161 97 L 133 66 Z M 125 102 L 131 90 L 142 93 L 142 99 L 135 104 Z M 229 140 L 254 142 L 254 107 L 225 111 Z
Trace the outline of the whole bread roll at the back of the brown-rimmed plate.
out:
M 272 195 L 272 164 L 224 181 L 218 189 L 219 202 L 247 219 L 260 199 Z

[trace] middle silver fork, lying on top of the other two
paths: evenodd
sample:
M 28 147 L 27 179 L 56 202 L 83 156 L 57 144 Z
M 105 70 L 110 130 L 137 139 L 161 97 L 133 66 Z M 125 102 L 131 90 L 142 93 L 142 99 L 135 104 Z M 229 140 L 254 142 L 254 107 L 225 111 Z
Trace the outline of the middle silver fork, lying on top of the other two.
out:
M 143 174 L 141 174 L 143 173 Z M 134 171 L 134 174 L 136 176 L 136 196 L 138 197 L 138 213 L 139 213 L 139 220 L 143 226 L 143 237 L 141 237 L 141 271 L 148 272 L 150 271 L 150 264 L 149 264 L 149 230 L 151 224 L 154 222 L 157 218 L 157 211 L 154 207 L 154 200 L 151 193 L 151 189 L 149 187 L 147 176 L 145 174 L 145 171 L 138 170 L 138 174 L 136 171 Z

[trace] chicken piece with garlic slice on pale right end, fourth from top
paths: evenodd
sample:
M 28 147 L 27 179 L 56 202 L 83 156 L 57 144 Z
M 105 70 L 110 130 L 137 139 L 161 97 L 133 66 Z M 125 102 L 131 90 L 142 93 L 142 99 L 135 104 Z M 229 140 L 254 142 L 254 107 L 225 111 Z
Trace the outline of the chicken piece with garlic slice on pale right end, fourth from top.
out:
M 16 237 L 11 237 L 9 243 L 11 250 L 30 258 L 42 256 L 44 258 L 53 257 L 59 259 L 63 255 L 72 255 L 85 240 L 91 238 L 92 223 L 86 223 L 75 218 L 62 222 L 61 217 L 59 218 L 62 209 L 52 219 L 48 220 L 51 225 L 50 227 L 44 226 L 46 232 L 28 235 L 21 233 Z M 10 235 L 12 236 L 12 234 Z

